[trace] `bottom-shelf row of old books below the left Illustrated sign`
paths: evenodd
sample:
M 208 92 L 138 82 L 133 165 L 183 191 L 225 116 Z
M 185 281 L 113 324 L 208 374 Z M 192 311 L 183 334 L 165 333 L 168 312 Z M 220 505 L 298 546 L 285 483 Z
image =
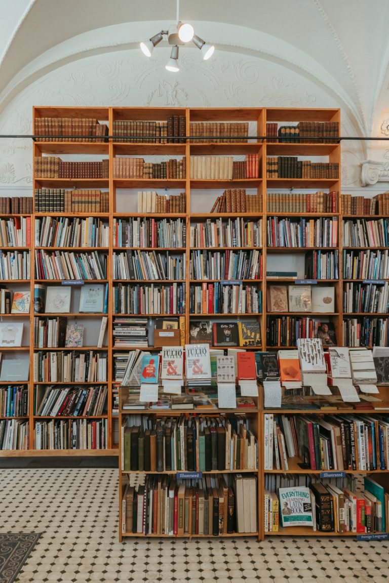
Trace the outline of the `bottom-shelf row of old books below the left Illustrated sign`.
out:
M 122 533 L 219 536 L 257 532 L 257 477 L 206 475 L 198 480 L 146 476 L 124 487 Z

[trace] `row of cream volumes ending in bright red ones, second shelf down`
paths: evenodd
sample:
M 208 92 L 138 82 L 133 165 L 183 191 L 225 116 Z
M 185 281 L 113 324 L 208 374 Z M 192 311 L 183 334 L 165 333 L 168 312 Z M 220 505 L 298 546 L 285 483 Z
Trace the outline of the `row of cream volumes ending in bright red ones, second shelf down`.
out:
M 192 180 L 236 180 L 239 178 L 258 178 L 258 176 L 258 154 L 247 154 L 246 160 L 243 162 L 234 161 L 233 156 L 190 157 L 190 177 Z

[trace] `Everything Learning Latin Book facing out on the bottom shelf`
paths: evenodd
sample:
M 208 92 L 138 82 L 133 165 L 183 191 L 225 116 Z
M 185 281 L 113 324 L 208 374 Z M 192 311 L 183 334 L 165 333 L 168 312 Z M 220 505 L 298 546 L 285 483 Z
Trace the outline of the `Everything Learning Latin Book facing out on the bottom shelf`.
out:
M 309 488 L 279 488 L 278 497 L 282 526 L 313 526 Z

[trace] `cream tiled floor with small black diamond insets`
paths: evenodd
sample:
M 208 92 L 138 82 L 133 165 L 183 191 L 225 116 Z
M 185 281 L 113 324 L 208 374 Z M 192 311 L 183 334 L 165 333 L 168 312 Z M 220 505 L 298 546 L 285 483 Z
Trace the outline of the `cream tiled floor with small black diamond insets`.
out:
M 117 470 L 1 469 L 0 532 L 42 532 L 16 583 L 385 583 L 389 542 L 117 542 Z

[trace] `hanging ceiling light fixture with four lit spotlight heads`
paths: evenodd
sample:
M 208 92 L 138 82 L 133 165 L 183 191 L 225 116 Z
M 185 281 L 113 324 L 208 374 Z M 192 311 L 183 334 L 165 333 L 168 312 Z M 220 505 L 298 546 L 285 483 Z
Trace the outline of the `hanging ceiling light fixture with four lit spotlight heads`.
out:
M 169 30 L 161 30 L 159 33 L 155 34 L 145 43 L 141 43 L 140 47 L 146 57 L 151 57 L 154 47 L 160 41 L 162 41 L 163 36 L 167 36 L 167 42 L 171 46 L 170 59 L 166 64 L 167 71 L 172 71 L 176 73 L 180 70 L 178 66 L 178 47 L 183 47 L 186 43 L 191 41 L 201 50 L 202 58 L 204 61 L 208 61 L 212 57 L 215 47 L 211 44 L 207 44 L 202 38 L 194 34 L 194 29 L 191 24 L 186 22 L 181 22 L 178 17 L 178 12 L 180 8 L 180 0 L 177 0 L 177 22 L 176 24 L 171 24 Z

